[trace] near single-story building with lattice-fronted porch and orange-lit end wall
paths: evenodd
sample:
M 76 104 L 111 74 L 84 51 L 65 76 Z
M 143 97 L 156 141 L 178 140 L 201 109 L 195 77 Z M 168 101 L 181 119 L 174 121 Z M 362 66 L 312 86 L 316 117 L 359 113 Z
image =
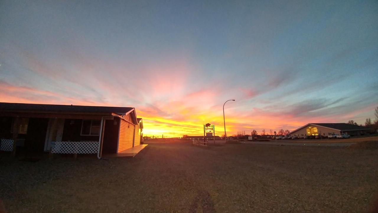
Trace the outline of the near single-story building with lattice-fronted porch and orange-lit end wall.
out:
M 0 150 L 120 153 L 139 146 L 143 121 L 133 107 L 0 102 Z

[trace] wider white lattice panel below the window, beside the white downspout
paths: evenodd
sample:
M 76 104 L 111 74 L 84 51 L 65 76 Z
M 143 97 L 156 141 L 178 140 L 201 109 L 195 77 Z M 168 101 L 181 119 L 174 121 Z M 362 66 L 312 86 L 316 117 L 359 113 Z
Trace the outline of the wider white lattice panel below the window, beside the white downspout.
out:
M 51 153 L 94 154 L 98 152 L 98 141 L 52 141 Z

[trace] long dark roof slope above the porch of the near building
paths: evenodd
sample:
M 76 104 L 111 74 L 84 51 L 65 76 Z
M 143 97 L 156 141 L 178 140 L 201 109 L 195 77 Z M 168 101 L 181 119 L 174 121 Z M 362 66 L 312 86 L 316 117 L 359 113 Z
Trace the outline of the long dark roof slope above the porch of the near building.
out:
M 87 112 L 87 113 L 127 113 L 133 107 L 94 107 L 76 105 L 54 105 L 34 103 L 0 102 L 1 111 L 54 111 L 54 112 Z

